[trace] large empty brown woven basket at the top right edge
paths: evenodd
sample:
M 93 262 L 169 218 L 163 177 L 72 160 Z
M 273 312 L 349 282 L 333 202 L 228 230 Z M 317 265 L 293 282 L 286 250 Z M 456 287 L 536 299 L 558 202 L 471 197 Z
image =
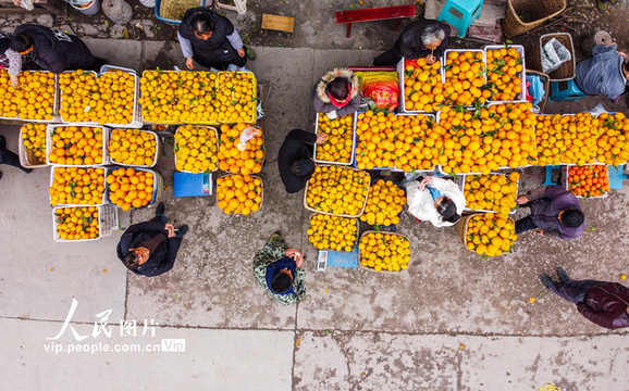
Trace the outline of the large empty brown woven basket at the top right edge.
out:
M 503 33 L 510 38 L 525 34 L 566 9 L 566 0 L 509 0 L 506 16 L 503 20 Z M 530 16 L 532 22 L 525 23 L 521 14 Z

